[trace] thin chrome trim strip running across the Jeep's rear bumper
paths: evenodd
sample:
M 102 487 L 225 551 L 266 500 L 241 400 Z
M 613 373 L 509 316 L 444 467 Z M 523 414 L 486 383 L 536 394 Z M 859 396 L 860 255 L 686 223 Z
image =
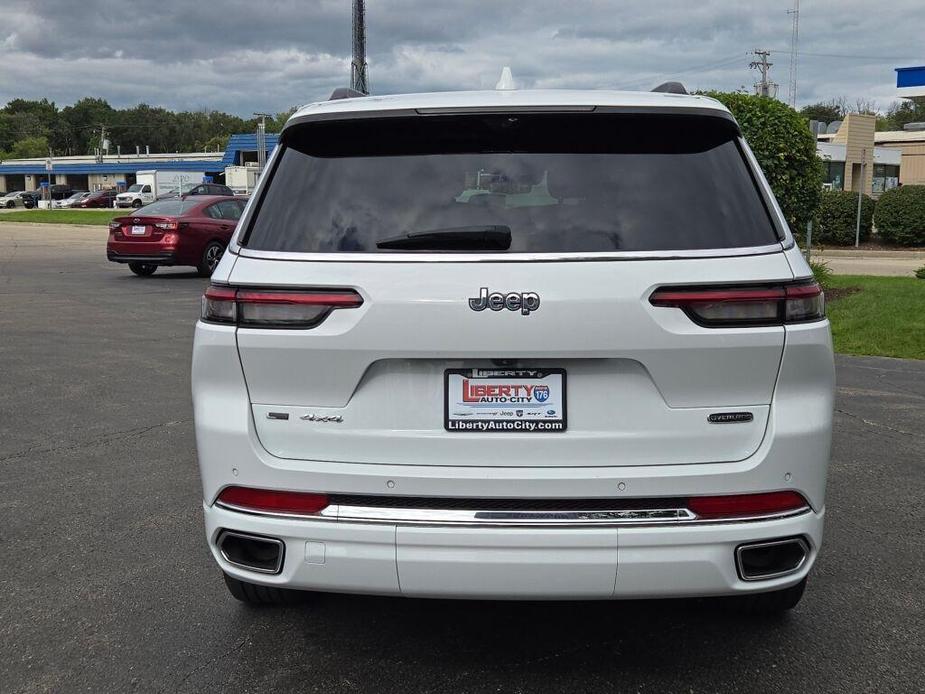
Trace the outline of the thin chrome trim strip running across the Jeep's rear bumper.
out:
M 778 520 L 798 516 L 808 506 L 784 513 L 728 519 L 698 518 L 686 508 L 621 509 L 614 511 L 499 511 L 462 509 L 420 509 L 333 504 L 316 514 L 254 511 L 233 504 L 216 502 L 219 508 L 237 513 L 297 520 L 386 525 L 458 525 L 477 527 L 607 527 L 619 525 L 703 525 Z

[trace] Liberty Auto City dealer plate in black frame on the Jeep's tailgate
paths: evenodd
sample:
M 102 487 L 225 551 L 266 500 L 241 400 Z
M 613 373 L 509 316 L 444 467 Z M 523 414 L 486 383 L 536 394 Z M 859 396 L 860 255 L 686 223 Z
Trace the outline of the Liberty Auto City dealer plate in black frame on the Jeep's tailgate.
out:
M 462 402 L 467 387 L 467 395 L 472 396 L 473 385 L 508 386 L 509 389 L 507 393 L 501 389 L 478 390 L 479 397 L 524 398 L 529 393 L 529 400 Z M 545 388 L 537 389 L 535 386 Z M 561 434 L 568 430 L 567 391 L 566 370 L 558 367 L 445 369 L 443 428 L 460 434 Z M 516 395 L 513 394 L 515 392 Z M 541 397 L 543 392 L 545 399 L 537 397 Z M 451 402 L 454 404 L 451 405 Z

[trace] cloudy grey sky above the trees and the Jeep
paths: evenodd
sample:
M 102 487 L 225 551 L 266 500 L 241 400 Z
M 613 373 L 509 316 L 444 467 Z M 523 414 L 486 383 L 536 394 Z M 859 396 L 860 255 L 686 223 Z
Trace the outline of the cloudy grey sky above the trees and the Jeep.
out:
M 114 106 L 249 115 L 349 82 L 350 0 L 0 0 L 0 104 L 100 96 Z M 786 99 L 792 0 L 367 0 L 374 93 L 493 87 L 750 88 L 774 53 Z M 925 64 L 925 2 L 803 0 L 798 104 L 893 101 Z

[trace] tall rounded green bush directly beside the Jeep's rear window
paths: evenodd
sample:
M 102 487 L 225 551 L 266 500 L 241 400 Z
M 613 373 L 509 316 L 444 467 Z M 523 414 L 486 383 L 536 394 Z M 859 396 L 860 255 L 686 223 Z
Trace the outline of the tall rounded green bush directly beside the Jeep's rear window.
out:
M 813 219 L 822 193 L 822 162 L 806 119 L 787 104 L 738 92 L 706 92 L 739 123 L 794 234 Z

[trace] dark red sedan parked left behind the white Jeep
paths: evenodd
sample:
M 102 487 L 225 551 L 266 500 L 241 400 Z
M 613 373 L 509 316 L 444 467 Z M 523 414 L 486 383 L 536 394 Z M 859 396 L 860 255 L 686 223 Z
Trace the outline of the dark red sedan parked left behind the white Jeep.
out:
M 243 211 L 243 200 L 224 195 L 159 200 L 110 222 L 106 257 L 141 276 L 159 265 L 191 265 L 208 277 Z

